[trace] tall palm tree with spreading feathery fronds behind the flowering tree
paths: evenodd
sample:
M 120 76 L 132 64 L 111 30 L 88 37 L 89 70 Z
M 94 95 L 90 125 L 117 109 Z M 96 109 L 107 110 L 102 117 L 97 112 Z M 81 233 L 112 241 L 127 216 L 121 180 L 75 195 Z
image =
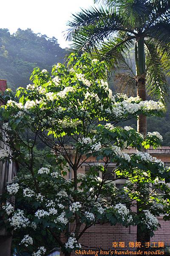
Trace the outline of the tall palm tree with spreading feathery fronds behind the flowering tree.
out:
M 106 7 L 91 7 L 73 15 L 67 40 L 76 51 L 88 51 L 114 68 L 134 47 L 137 95 L 165 100 L 170 75 L 170 0 L 94 0 Z M 140 115 L 138 131 L 147 132 Z

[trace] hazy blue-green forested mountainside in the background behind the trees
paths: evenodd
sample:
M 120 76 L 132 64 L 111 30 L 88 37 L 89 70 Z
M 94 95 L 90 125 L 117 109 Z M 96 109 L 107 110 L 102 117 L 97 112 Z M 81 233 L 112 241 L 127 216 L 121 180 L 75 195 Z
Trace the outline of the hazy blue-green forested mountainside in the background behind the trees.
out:
M 35 34 L 31 29 L 18 29 L 13 35 L 8 29 L 0 29 L 0 79 L 6 79 L 8 87 L 13 90 L 19 86 L 25 87 L 30 82 L 29 77 L 34 67 L 50 71 L 55 63 L 64 62 L 66 54 L 67 49 L 59 47 L 55 37 Z M 132 66 L 134 68 L 133 55 Z M 121 83 L 123 79 L 126 80 L 122 76 Z M 119 92 L 119 85 L 113 88 L 113 84 L 112 80 L 112 89 Z M 134 88 L 131 89 L 134 93 Z M 122 125 L 136 128 L 136 120 Z M 167 103 L 167 112 L 163 117 L 148 118 L 147 126 L 148 131 L 159 131 L 164 139 L 163 145 L 170 145 L 170 104 Z

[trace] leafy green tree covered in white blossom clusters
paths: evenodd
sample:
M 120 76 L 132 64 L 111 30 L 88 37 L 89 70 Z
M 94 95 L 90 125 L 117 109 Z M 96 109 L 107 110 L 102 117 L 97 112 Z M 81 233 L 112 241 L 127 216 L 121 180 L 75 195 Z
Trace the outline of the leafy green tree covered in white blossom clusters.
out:
M 152 236 L 159 226 L 156 216 L 167 211 L 169 204 L 155 192 L 160 182 L 164 195 L 170 191 L 164 183 L 165 179 L 169 182 L 168 169 L 141 149 L 150 145 L 156 148 L 162 137 L 157 132 L 143 137 L 118 124 L 141 113 L 160 115 L 164 111 L 161 102 L 113 96 L 104 62 L 91 60 L 88 55 L 71 54 L 68 68 L 57 64 L 51 75 L 34 69 L 31 80 L 33 84 L 19 87 L 15 96 L 6 90 L 6 105 L 0 108 L 1 131 L 11 148 L 11 154 L 1 149 L 0 159 L 13 160 L 18 168 L 17 177 L 7 185 L 1 199 L 1 215 L 5 215 L 6 228 L 20 234 L 17 251 L 47 255 L 57 245 L 70 255 L 81 247 L 79 239 L 89 227 L 108 222 L 125 227 L 138 224 Z M 38 143 L 51 152 L 37 155 L 34 148 Z M 124 153 L 128 146 L 136 148 L 136 153 Z M 56 161 L 44 162 L 54 156 Z M 101 163 L 90 166 L 85 175 L 79 173 L 79 167 L 91 156 Z M 38 157 L 42 159 L 39 165 Z M 112 180 L 107 175 L 111 163 L 116 163 L 111 173 L 116 173 L 116 178 Z M 73 178 L 66 178 L 69 172 Z M 122 189 L 116 188 L 117 179 L 126 181 Z M 132 212 L 136 204 L 137 213 Z

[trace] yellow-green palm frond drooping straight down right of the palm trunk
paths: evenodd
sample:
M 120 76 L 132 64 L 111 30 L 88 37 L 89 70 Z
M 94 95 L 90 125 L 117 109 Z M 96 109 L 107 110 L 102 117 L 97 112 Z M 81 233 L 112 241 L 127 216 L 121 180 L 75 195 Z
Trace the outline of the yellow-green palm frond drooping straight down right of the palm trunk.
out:
M 153 40 L 147 39 L 146 45 L 146 86 L 150 96 L 165 102 L 169 93 L 169 86 L 161 63 L 161 56 Z

